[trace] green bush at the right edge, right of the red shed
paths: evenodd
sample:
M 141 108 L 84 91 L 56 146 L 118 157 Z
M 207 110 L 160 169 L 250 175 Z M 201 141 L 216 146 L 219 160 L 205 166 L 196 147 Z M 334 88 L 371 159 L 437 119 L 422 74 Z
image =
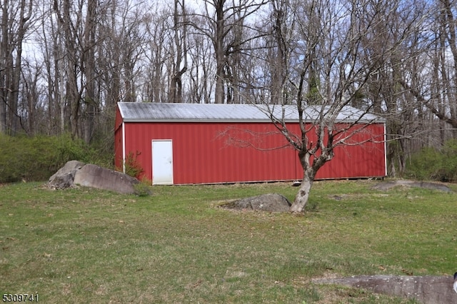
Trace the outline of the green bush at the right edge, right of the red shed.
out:
M 441 149 L 423 148 L 411 156 L 406 173 L 418 180 L 457 180 L 457 140 L 447 141 Z

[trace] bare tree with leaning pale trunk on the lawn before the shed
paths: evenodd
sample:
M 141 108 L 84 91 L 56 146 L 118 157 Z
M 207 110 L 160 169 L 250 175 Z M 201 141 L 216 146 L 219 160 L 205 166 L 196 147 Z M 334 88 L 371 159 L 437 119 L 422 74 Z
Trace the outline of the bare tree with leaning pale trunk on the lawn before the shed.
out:
M 276 41 L 273 46 L 278 56 L 272 66 L 276 69 L 278 62 L 283 62 L 286 69 L 281 74 L 271 71 L 274 83 L 269 86 L 271 91 L 263 94 L 263 103 L 278 131 L 296 149 L 303 168 L 303 180 L 291 206 L 293 212 L 305 208 L 316 173 L 331 161 L 335 148 L 360 144 L 353 136 L 373 119 L 372 102 L 367 101 L 350 114 L 347 106 L 360 103 L 361 90 L 382 69 L 379 63 L 398 51 L 413 26 L 406 26 L 383 51 L 364 54 L 367 39 L 383 37 L 379 23 L 387 16 L 380 16 L 382 11 L 376 7 L 384 4 L 383 0 L 278 0 L 273 5 L 269 43 Z M 394 11 L 399 14 L 401 9 L 396 7 Z M 286 29 L 293 35 L 286 34 Z M 388 31 L 387 26 L 383 31 Z M 285 122 L 288 104 L 295 105 L 298 112 L 299 133 Z M 275 112 L 278 106 L 283 108 L 282 115 Z M 351 116 L 350 120 L 338 124 L 343 113 Z

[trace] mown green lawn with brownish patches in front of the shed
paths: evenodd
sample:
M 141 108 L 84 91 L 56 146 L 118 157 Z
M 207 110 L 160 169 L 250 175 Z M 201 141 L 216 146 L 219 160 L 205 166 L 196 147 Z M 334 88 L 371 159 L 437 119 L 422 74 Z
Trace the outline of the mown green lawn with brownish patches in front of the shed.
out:
M 0 186 L 0 294 L 38 293 L 43 303 L 414 303 L 311 283 L 456 270 L 457 194 L 373 183 L 317 182 L 300 216 L 218 208 L 261 193 L 293 199 L 286 183 L 154 186 L 144 197 Z

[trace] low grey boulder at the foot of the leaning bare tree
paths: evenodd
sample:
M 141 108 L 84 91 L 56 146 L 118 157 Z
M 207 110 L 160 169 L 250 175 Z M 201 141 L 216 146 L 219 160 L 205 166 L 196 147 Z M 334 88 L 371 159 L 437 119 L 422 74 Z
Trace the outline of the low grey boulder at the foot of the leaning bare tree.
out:
M 222 207 L 241 210 L 288 212 L 290 206 L 291 202 L 285 196 L 281 196 L 278 193 L 268 193 L 261 196 L 242 198 L 238 201 L 226 203 Z

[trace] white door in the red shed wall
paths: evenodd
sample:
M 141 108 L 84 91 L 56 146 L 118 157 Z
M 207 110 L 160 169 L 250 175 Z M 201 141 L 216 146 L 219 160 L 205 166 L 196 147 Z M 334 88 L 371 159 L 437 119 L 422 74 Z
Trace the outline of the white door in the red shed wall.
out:
M 152 141 L 152 184 L 173 184 L 173 145 L 171 140 Z

